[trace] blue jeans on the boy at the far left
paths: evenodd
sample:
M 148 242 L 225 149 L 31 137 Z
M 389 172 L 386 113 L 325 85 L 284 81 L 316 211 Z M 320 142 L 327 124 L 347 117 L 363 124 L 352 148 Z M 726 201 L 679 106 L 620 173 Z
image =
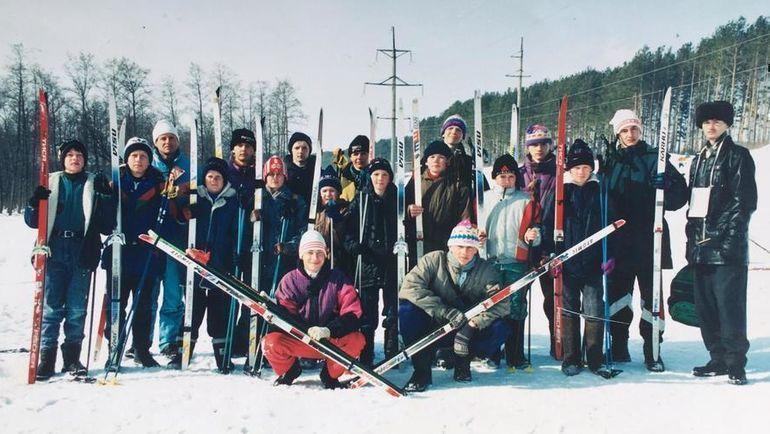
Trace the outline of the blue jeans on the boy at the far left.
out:
M 41 348 L 55 349 L 64 321 L 64 343 L 80 345 L 88 305 L 91 270 L 79 264 L 82 239 L 53 237 L 46 263 Z

